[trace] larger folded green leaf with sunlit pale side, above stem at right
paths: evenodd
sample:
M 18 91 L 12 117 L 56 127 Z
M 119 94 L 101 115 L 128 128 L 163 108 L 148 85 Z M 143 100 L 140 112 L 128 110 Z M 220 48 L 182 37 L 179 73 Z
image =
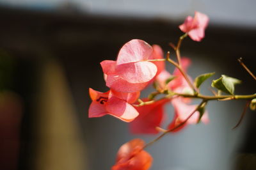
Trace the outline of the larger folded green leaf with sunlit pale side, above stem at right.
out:
M 220 89 L 221 91 L 234 95 L 235 85 L 241 83 L 238 79 L 221 75 L 220 79 L 212 81 L 212 87 Z

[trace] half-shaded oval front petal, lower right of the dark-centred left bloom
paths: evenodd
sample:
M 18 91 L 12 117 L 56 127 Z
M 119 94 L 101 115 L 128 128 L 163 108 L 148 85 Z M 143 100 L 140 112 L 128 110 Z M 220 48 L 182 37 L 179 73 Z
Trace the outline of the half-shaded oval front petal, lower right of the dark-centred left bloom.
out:
M 139 115 L 138 111 L 136 111 L 131 104 L 128 104 L 125 100 L 116 97 L 109 98 L 106 103 L 106 110 L 112 116 L 127 122 L 134 120 L 134 118 Z

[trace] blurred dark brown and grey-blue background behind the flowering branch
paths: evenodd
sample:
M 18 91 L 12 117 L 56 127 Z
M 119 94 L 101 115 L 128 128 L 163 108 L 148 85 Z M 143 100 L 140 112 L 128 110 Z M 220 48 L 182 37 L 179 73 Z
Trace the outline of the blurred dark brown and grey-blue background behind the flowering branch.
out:
M 237 62 L 243 57 L 256 72 L 255 6 L 253 0 L 0 0 L 0 169 L 110 169 L 122 144 L 154 139 L 130 134 L 111 116 L 88 119 L 88 88 L 108 90 L 99 63 L 115 60 L 132 38 L 173 54 L 168 43 L 177 42 L 178 26 L 195 10 L 210 24 L 202 42 L 182 44 L 182 56 L 193 62 L 189 75 L 237 77 L 238 94 L 255 93 L 255 81 Z M 202 93 L 211 95 L 209 86 Z M 148 148 L 151 169 L 256 169 L 255 112 L 232 130 L 244 105 L 211 102 L 209 125 L 189 126 Z M 171 121 L 171 105 L 166 112 Z

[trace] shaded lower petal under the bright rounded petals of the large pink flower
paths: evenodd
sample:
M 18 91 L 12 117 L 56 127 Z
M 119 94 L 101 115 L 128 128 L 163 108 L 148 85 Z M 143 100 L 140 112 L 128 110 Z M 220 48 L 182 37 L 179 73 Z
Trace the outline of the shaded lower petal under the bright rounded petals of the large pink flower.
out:
M 122 79 L 119 75 L 111 74 L 106 78 L 106 86 L 115 91 L 120 92 L 136 92 L 141 91 L 148 85 L 148 82 L 143 83 L 131 83 Z

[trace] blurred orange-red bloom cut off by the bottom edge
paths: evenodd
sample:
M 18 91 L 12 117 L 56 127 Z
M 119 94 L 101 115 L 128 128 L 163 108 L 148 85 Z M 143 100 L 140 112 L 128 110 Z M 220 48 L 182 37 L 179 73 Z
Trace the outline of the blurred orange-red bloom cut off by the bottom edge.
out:
M 150 168 L 153 158 L 143 150 L 144 141 L 133 139 L 123 144 L 117 153 L 116 164 L 112 170 L 147 170 Z

